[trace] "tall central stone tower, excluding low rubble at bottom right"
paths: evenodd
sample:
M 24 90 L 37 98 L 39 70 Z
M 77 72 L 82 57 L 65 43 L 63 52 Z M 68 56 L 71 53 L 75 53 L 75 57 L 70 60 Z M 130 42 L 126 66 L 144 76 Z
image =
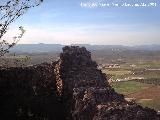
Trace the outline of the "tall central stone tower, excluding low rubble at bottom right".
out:
M 62 99 L 68 120 L 91 120 L 96 105 L 108 101 L 123 101 L 108 85 L 105 74 L 97 69 L 91 60 L 91 53 L 85 48 L 64 47 L 60 54 L 59 74 Z

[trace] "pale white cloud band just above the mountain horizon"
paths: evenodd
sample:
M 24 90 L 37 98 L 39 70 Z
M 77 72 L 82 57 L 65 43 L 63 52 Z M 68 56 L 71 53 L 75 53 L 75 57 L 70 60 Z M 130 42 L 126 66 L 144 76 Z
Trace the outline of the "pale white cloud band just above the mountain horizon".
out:
M 19 43 L 56 44 L 156 44 L 158 30 L 140 29 L 135 25 L 62 25 L 53 28 L 25 27 L 26 33 Z M 142 27 L 142 26 L 140 26 Z M 137 29 L 137 31 L 136 31 Z M 12 29 L 10 35 L 16 34 Z

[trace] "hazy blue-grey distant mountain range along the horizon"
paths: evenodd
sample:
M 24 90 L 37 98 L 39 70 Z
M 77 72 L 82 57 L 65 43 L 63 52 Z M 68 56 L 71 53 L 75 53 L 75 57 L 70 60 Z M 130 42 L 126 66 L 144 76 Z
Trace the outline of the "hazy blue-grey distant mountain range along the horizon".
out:
M 160 45 L 139 45 L 139 46 L 123 46 L 123 45 L 90 45 L 90 44 L 71 44 L 72 46 L 84 46 L 88 50 L 147 50 L 159 51 Z M 61 44 L 18 44 L 11 49 L 11 52 L 24 52 L 24 53 L 40 53 L 40 52 L 61 52 Z

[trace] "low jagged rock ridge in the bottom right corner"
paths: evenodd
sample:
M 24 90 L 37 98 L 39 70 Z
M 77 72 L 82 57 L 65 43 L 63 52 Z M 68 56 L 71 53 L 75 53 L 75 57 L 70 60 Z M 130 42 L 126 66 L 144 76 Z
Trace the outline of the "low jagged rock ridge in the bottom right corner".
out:
M 135 103 L 101 105 L 93 120 L 159 120 L 156 111 Z

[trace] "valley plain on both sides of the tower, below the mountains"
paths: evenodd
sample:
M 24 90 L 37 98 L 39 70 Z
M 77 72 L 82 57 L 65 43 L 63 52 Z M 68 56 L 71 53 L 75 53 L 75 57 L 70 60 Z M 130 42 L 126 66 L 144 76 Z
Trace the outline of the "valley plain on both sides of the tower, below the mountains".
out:
M 9 54 L 0 59 L 0 67 L 28 66 L 58 57 L 56 52 Z M 116 92 L 160 110 L 160 51 L 92 51 L 92 58 Z

